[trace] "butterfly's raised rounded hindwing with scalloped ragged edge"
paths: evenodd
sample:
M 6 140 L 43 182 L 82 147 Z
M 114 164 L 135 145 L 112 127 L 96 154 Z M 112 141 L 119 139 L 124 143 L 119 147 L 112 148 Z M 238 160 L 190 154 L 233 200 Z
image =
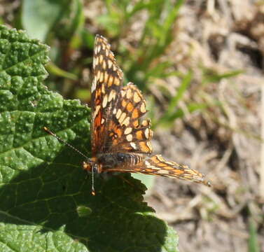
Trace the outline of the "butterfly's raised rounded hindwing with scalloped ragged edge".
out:
M 108 125 L 105 151 L 109 153 L 152 152 L 151 120 L 140 120 L 146 113 L 146 101 L 139 89 L 128 83 L 120 90 Z

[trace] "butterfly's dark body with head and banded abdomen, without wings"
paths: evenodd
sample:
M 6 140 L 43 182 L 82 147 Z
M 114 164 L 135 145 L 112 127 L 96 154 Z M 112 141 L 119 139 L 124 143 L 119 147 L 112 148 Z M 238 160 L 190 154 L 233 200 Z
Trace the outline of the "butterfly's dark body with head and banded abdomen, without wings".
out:
M 132 167 L 142 162 L 143 156 L 134 153 L 99 153 L 95 158 L 91 158 L 88 162 L 83 162 L 83 169 L 92 171 L 95 169 L 97 173 L 107 169 L 122 169 L 122 167 Z

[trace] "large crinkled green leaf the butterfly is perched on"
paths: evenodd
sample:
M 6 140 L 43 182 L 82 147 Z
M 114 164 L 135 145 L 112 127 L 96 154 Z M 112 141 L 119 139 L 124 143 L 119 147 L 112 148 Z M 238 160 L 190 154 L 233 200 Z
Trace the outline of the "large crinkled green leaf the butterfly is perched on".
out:
M 98 175 L 93 197 L 83 158 L 43 131 L 90 150 L 90 110 L 41 83 L 47 53 L 0 27 L 0 251 L 177 251 L 174 230 L 143 202 L 144 185 Z

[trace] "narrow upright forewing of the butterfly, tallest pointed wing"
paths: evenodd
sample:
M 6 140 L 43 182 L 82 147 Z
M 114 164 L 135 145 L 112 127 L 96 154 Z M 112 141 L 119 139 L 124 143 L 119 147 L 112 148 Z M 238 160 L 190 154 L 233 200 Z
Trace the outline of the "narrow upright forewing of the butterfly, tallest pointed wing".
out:
M 91 88 L 91 142 L 92 154 L 104 151 L 107 125 L 118 93 L 123 87 L 123 72 L 116 64 L 109 43 L 103 36 L 95 37 Z

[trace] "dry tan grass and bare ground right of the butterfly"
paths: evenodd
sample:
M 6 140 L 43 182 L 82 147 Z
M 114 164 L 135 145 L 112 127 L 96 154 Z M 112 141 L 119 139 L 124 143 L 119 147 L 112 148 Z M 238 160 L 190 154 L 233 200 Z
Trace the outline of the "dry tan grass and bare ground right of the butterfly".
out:
M 263 6 L 252 1 L 186 1 L 181 8 L 168 55 L 177 69 L 195 73 L 196 83 L 185 99 L 221 102 L 206 113 L 187 115 L 170 133 L 155 132 L 167 158 L 208 174 L 214 185 L 210 189 L 158 179 L 148 197 L 158 216 L 179 232 L 181 251 L 247 251 L 252 219 L 264 251 L 263 20 Z M 206 68 L 244 73 L 201 85 Z M 176 81 L 169 81 L 174 87 Z

